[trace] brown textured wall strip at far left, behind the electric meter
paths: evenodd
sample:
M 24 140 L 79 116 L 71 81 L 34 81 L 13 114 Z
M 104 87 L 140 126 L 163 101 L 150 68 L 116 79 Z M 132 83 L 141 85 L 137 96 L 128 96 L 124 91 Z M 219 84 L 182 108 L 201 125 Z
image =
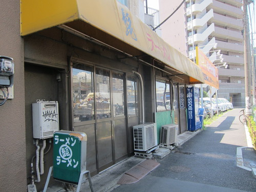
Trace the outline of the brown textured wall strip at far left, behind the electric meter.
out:
M 12 192 L 27 191 L 24 44 L 19 35 L 19 13 L 18 1 L 1 1 L 0 55 L 14 59 L 15 74 L 14 98 L 0 106 L 0 190 Z

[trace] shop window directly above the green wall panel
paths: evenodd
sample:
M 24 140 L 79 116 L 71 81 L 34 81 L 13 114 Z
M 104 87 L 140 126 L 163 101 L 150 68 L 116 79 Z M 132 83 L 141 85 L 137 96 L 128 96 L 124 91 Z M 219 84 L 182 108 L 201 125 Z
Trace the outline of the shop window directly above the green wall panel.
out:
M 170 86 L 162 80 L 156 80 L 157 112 L 170 110 Z

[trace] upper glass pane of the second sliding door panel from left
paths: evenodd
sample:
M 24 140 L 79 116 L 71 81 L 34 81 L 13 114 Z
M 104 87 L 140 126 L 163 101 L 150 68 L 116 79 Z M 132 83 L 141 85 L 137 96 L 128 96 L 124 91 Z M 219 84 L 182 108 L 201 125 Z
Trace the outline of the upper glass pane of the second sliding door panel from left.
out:
M 110 72 L 96 69 L 96 113 L 97 119 L 111 117 L 110 111 Z

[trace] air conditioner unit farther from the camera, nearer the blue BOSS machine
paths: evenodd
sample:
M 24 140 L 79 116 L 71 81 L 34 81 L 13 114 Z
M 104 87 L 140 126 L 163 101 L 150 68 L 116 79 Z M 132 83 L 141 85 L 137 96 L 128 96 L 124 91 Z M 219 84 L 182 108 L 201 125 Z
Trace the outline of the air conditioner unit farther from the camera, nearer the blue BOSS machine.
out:
M 162 125 L 160 132 L 160 144 L 170 145 L 177 143 L 178 140 L 178 124 Z

